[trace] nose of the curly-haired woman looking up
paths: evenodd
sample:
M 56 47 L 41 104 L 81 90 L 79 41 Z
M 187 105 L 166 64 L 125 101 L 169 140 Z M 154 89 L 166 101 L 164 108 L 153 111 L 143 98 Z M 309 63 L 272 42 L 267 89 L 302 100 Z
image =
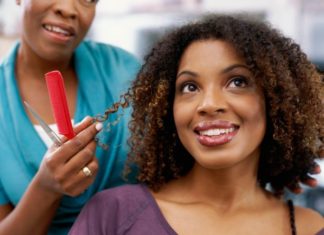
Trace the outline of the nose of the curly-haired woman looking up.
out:
M 224 113 L 228 109 L 226 95 L 220 89 L 213 89 L 202 92 L 201 100 L 197 111 L 202 115 L 214 115 L 217 113 Z

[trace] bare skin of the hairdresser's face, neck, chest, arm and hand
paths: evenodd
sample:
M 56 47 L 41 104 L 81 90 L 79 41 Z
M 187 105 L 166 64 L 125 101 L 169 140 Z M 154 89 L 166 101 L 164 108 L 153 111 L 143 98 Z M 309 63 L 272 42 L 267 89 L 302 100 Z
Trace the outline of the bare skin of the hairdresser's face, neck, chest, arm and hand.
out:
M 22 100 L 34 107 L 47 123 L 54 123 L 44 74 L 58 69 L 64 77 L 73 117 L 78 84 L 72 55 L 93 21 L 96 3 L 75 0 L 22 0 L 16 3 L 21 10 L 23 26 L 16 62 Z M 65 33 L 49 32 L 45 25 L 60 27 Z M 65 143 L 61 147 L 48 150 L 19 204 L 0 207 L 1 235 L 46 234 L 62 196 L 77 196 L 92 184 L 98 170 L 94 155 L 97 129 L 88 117 L 74 128 L 75 138 L 63 140 Z M 90 168 L 91 177 L 81 171 L 84 166 Z

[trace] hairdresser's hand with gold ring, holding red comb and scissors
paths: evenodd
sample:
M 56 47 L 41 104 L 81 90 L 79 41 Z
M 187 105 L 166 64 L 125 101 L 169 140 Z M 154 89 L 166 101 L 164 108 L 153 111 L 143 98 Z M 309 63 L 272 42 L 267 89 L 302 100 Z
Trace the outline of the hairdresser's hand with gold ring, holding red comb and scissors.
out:
M 51 147 L 36 174 L 37 185 L 56 198 L 84 192 L 98 171 L 94 138 L 100 128 L 87 117 L 74 128 L 77 135 L 73 139 L 63 140 L 64 144 L 58 148 Z M 84 167 L 90 169 L 90 175 L 83 172 Z

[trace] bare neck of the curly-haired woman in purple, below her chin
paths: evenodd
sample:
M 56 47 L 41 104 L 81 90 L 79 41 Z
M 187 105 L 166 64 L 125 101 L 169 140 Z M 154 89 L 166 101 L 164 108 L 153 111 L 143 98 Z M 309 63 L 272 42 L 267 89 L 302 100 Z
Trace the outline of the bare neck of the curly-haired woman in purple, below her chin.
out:
M 260 191 L 256 169 L 206 170 L 195 165 L 184 182 L 198 200 L 210 201 L 221 207 L 254 201 Z

